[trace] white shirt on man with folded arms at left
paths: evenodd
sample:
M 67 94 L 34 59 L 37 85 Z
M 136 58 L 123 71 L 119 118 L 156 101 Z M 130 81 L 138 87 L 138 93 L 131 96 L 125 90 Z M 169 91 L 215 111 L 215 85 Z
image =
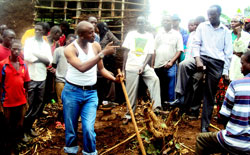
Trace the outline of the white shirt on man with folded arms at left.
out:
M 45 40 L 38 42 L 35 37 L 27 39 L 24 44 L 24 60 L 27 62 L 30 79 L 33 81 L 44 81 L 47 76 L 46 65 L 41 62 L 34 63 L 38 60 L 34 53 L 46 56 L 51 64 L 53 57 L 50 45 Z

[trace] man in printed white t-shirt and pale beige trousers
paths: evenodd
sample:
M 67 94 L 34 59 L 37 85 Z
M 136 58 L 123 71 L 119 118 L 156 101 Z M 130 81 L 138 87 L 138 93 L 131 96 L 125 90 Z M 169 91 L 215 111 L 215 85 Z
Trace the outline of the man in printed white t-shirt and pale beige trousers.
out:
M 154 37 L 145 31 L 146 20 L 144 17 L 137 18 L 136 26 L 137 30 L 129 32 L 122 45 L 128 49 L 124 53 L 123 72 L 126 75 L 126 89 L 131 107 L 135 111 L 139 77 L 142 76 L 154 101 L 153 108 L 161 108 L 159 79 L 154 69 L 148 65 L 154 54 Z M 127 124 L 129 120 L 131 120 L 131 116 L 127 112 L 123 124 Z

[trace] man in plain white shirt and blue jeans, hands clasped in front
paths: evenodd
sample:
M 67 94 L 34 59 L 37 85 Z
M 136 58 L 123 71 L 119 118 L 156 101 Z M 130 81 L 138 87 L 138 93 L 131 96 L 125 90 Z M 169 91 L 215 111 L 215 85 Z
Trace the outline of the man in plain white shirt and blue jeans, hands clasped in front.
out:
M 175 100 L 175 83 L 177 74 L 176 60 L 183 51 L 181 34 L 172 29 L 171 16 L 165 16 L 161 29 L 155 38 L 155 72 L 160 79 L 161 103 Z

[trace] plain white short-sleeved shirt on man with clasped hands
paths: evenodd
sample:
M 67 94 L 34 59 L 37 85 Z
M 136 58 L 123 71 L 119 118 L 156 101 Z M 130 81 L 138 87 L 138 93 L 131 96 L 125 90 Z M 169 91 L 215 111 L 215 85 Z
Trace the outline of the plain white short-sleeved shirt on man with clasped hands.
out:
M 168 63 L 177 52 L 183 51 L 181 34 L 172 29 L 166 32 L 161 29 L 155 37 L 155 68 L 160 68 Z

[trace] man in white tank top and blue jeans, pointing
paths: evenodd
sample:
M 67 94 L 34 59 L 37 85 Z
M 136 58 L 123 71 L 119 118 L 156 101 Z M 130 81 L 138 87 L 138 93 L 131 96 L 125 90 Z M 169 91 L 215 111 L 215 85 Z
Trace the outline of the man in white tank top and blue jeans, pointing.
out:
M 78 118 L 82 121 L 82 139 L 84 155 L 97 155 L 96 133 L 94 124 L 98 105 L 96 90 L 97 69 L 101 75 L 114 82 L 119 82 L 120 75 L 114 77 L 103 67 L 104 56 L 115 53 L 115 46 L 109 43 L 101 50 L 99 43 L 94 41 L 94 27 L 82 21 L 76 27 L 78 39 L 69 44 L 64 55 L 68 61 L 66 84 L 62 92 L 63 114 L 65 121 L 64 152 L 77 154 Z

